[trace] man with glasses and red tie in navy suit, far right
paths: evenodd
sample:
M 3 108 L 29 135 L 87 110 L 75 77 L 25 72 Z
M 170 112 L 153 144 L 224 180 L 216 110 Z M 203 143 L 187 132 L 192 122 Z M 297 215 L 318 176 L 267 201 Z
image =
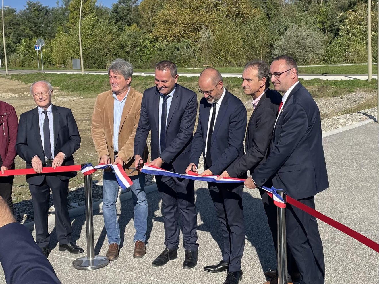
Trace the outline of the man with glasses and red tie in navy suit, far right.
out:
M 315 208 L 315 195 L 329 187 L 321 135 L 320 112 L 316 102 L 298 78 L 296 61 L 279 56 L 270 67 L 271 82 L 284 94 L 274 126 L 270 154 L 245 181 L 249 188 L 262 186 L 273 177 L 273 185 Z M 287 204 L 286 234 L 288 250 L 297 267 L 301 284 L 323 284 L 325 264 L 323 245 L 315 217 Z M 291 271 L 292 270 L 292 271 Z M 267 284 L 277 283 L 277 277 Z

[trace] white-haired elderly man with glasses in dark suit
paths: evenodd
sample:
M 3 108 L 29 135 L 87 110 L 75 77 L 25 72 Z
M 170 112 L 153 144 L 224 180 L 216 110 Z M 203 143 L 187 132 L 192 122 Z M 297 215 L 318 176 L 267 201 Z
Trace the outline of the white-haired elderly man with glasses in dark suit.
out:
M 17 154 L 27 168 L 36 174 L 26 176 L 33 198 L 36 243 L 45 256 L 50 253 L 50 234 L 47 230 L 50 190 L 55 208 L 55 228 L 60 251 L 82 253 L 72 240 L 72 227 L 67 209 L 69 179 L 76 172 L 42 174 L 42 167 L 74 165 L 74 154 L 80 147 L 80 135 L 69 108 L 51 103 L 53 88 L 47 81 L 34 82 L 30 93 L 37 107 L 20 115 L 16 139 Z

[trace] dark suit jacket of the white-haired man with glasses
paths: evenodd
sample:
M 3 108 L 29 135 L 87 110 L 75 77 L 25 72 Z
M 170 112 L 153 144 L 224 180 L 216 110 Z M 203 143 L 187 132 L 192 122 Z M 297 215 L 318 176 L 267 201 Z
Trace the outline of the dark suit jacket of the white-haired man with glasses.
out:
M 74 165 L 74 154 L 80 147 L 79 130 L 75 118 L 69 108 L 52 105 L 54 124 L 54 157 L 59 151 L 66 155 L 62 166 Z M 42 163 L 45 162 L 44 148 L 42 146 L 41 133 L 39 132 L 38 108 L 33 108 L 20 115 L 19 128 L 17 130 L 16 151 L 26 161 L 26 167 L 32 168 L 31 159 L 38 155 Z M 59 173 L 61 180 L 67 180 L 76 176 L 76 171 Z M 40 185 L 44 181 L 44 174 L 28 174 L 26 181 L 29 184 Z

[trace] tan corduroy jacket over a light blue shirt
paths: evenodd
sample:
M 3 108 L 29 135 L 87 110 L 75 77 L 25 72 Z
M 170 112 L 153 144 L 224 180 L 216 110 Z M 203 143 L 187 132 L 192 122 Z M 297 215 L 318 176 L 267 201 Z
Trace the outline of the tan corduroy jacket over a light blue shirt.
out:
M 99 160 L 103 155 L 109 155 L 111 163 L 114 162 L 113 147 L 113 105 L 114 97 L 112 90 L 101 93 L 97 96 L 94 112 L 92 114 L 91 135 L 95 144 L 95 149 L 99 155 Z M 130 87 L 129 94 L 126 98 L 124 110 L 122 111 L 120 128 L 118 133 L 118 154 L 124 161 L 126 174 L 130 174 L 134 167 L 134 137 L 138 126 L 139 115 L 141 113 L 142 94 Z M 143 155 L 144 162 L 147 161 L 149 151 L 145 146 Z M 131 175 L 139 174 L 135 171 Z

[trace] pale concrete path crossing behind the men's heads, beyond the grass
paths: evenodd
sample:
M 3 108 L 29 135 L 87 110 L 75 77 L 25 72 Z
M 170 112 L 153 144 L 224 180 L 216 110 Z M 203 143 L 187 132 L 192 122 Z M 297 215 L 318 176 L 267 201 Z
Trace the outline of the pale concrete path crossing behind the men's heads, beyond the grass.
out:
M 42 70 L 8 70 L 9 74 L 29 74 L 29 73 L 42 73 Z M 45 73 L 53 74 L 80 74 L 80 70 L 45 70 Z M 5 70 L 1 70 L 0 74 L 5 75 Z M 92 75 L 106 75 L 105 71 L 85 71 L 85 74 Z M 133 75 L 152 76 L 153 72 L 133 72 Z M 180 72 L 180 76 L 186 77 L 199 77 L 200 73 L 186 73 Z M 241 77 L 242 73 L 221 73 L 223 77 Z M 321 80 L 367 80 L 367 74 L 299 74 L 299 78 L 304 80 L 321 79 Z M 376 74 L 373 74 L 373 79 L 377 78 Z

